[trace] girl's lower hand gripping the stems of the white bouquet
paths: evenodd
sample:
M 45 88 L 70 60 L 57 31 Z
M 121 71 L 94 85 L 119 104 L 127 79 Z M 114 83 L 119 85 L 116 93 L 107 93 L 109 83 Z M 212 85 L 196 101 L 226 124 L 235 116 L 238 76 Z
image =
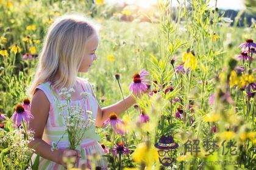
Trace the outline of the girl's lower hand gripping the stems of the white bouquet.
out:
M 59 149 L 59 164 L 63 165 L 65 168 L 73 168 L 76 165 L 76 161 L 81 157 L 81 152 L 78 150 L 69 150 L 69 149 Z

